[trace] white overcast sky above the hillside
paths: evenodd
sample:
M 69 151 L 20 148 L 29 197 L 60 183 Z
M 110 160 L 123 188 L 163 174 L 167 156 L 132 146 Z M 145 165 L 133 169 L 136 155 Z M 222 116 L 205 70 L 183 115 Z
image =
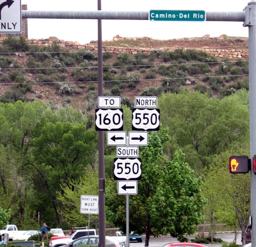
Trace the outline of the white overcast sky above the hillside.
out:
M 243 11 L 250 0 L 102 0 L 105 11 L 149 11 L 163 10 L 205 10 Z M 44 11 L 95 11 L 97 0 L 21 0 L 28 10 Z M 89 43 L 97 40 L 97 20 L 54 20 L 29 19 L 29 38 L 58 37 L 63 40 Z M 201 37 L 210 34 L 218 37 L 248 37 L 248 28 L 241 22 L 152 22 L 149 20 L 102 20 L 102 40 L 112 40 L 119 34 L 123 37 L 152 37 L 174 39 Z

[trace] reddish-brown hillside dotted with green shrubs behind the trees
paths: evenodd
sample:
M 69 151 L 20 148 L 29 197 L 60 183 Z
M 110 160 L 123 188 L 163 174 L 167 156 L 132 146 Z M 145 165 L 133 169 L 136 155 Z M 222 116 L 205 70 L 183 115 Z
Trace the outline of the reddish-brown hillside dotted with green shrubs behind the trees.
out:
M 95 105 L 96 52 L 63 49 L 56 43 L 39 47 L 22 37 L 9 37 L 0 45 L 0 53 L 1 102 L 42 99 L 53 106 L 85 105 L 85 109 Z M 223 97 L 237 89 L 248 90 L 247 75 L 247 60 L 217 58 L 195 49 L 103 53 L 104 93 L 120 95 L 128 105 L 134 96 L 179 92 L 182 86 Z

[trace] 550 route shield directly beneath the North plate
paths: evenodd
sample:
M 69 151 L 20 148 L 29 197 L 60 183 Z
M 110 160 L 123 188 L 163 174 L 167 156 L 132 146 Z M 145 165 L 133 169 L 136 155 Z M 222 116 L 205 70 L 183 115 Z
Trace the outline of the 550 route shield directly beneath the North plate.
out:
M 132 109 L 132 130 L 159 130 L 160 109 Z

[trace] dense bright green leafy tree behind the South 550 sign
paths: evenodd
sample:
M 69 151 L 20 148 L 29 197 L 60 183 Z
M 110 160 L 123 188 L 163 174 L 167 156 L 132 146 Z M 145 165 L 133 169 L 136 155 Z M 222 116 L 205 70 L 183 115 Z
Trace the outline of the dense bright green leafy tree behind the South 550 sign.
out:
M 172 161 L 163 155 L 167 132 L 165 128 L 149 134 L 148 146 L 140 151 L 142 180 L 138 182 L 138 195 L 130 200 L 130 229 L 145 231 L 145 246 L 152 234 L 170 233 L 177 238 L 192 234 L 202 218 L 202 181 L 195 178 L 181 151 L 175 152 Z M 106 216 L 124 230 L 125 200 L 114 188 L 116 183 L 108 182 Z

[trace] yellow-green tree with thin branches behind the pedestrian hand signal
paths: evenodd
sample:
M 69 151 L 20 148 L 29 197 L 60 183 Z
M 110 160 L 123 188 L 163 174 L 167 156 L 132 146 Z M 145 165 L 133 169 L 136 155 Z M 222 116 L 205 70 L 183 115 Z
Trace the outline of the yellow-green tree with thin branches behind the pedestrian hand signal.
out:
M 205 184 L 211 184 L 214 195 L 218 195 L 214 209 L 216 215 L 228 224 L 239 225 L 243 244 L 250 217 L 250 174 L 231 174 L 227 164 L 231 155 L 244 155 L 246 152 L 246 148 L 240 148 L 216 155 L 205 177 Z M 209 192 L 203 191 L 209 199 Z

